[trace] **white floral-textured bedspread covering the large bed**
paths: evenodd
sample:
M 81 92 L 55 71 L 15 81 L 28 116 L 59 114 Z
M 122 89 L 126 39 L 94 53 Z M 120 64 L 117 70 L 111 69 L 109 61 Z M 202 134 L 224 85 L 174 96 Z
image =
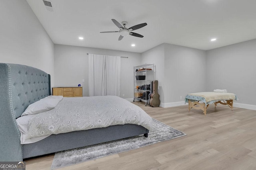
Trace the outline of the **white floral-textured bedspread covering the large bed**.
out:
M 127 123 L 152 126 L 145 111 L 117 96 L 63 98 L 54 109 L 30 117 L 27 139 Z

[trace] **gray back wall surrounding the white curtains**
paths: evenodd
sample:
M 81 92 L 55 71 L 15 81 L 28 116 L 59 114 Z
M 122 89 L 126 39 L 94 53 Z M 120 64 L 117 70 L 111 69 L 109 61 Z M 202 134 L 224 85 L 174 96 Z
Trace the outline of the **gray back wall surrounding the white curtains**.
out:
M 121 97 L 130 100 L 133 99 L 133 66 L 141 63 L 140 53 L 55 44 L 55 87 L 78 86 L 78 84 L 81 84 L 83 86 L 83 96 L 88 96 L 87 53 L 128 57 L 128 59 L 121 58 Z M 82 79 L 85 82 L 82 82 Z

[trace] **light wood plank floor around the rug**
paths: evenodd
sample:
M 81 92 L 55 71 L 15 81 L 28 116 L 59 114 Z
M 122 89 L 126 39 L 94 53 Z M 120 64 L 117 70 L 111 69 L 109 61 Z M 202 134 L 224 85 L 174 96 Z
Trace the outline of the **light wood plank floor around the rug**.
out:
M 150 116 L 187 135 L 58 170 L 255 170 L 256 111 L 211 105 L 150 107 Z M 54 155 L 26 160 L 26 170 L 49 170 Z

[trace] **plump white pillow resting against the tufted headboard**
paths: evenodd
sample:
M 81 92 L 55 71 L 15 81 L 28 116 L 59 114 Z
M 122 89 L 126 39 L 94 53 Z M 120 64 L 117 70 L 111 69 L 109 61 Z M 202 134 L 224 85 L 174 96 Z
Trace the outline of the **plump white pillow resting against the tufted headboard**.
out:
M 34 115 L 54 109 L 62 99 L 63 96 L 47 96 L 46 98 L 30 104 L 21 116 Z

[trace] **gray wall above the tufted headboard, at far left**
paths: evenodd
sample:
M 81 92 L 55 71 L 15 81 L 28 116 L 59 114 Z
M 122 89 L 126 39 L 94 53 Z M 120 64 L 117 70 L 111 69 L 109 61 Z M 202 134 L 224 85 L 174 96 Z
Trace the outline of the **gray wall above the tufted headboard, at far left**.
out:
M 53 86 L 54 44 L 26 0 L 1 0 L 0 24 L 0 63 L 39 68 Z

